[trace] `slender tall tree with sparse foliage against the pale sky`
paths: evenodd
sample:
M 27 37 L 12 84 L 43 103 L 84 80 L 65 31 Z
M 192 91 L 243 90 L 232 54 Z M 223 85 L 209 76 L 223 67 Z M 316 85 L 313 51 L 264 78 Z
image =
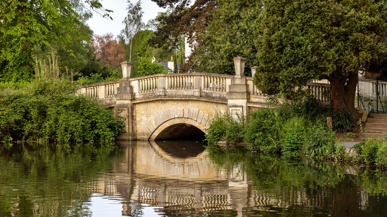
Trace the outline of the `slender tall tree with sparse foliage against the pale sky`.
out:
M 132 47 L 132 39 L 134 34 L 141 30 L 144 26 L 142 22 L 142 8 L 141 8 L 141 0 L 138 0 L 135 4 L 132 4 L 130 0 L 128 0 L 128 15 L 125 17 L 123 24 L 125 25 L 124 29 L 121 31 L 122 37 L 125 39 L 127 44 L 129 45 L 129 61 L 131 61 L 131 47 Z

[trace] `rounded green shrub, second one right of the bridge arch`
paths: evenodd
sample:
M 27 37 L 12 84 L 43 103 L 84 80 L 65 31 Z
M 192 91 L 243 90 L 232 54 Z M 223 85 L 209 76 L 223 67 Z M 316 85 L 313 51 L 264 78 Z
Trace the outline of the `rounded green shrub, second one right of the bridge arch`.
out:
M 274 111 L 259 109 L 249 114 L 245 128 L 245 142 L 261 152 L 278 152 L 278 127 Z

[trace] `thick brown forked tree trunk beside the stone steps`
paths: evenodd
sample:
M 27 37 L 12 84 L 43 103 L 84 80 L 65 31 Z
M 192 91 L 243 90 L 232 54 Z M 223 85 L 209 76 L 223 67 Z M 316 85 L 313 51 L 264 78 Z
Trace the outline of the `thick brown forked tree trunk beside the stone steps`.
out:
M 339 72 L 333 72 L 329 77 L 330 91 L 332 93 L 333 109 L 347 109 L 353 113 L 355 120 L 360 114 L 355 109 L 356 86 L 358 74 L 351 73 L 348 76 L 340 76 Z

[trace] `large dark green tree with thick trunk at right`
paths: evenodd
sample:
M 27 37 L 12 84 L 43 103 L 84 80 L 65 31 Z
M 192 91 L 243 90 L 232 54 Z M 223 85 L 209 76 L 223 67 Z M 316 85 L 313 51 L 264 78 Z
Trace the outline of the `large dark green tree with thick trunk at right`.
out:
M 381 61 L 385 0 L 263 0 L 256 27 L 258 88 L 287 99 L 312 79 L 330 82 L 334 109 L 356 114 L 359 70 Z

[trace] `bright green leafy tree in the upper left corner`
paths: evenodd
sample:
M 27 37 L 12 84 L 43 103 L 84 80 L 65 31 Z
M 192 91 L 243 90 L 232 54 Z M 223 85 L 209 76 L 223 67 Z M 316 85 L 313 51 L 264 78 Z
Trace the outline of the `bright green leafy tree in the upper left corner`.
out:
M 76 1 L 76 0 L 73 0 Z M 79 0 L 77 0 L 79 1 Z M 85 0 L 104 10 L 98 0 Z M 68 0 L 8 0 L 0 3 L 0 79 L 33 77 L 32 53 L 57 47 L 68 51 L 71 41 L 90 41 L 90 31 Z

